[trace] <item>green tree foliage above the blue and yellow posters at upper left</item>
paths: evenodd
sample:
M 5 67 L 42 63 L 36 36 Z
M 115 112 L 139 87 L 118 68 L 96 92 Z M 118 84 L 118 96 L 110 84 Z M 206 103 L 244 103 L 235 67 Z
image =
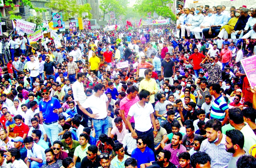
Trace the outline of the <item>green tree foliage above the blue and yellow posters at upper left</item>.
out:
M 69 20 L 69 18 L 74 17 L 82 17 L 85 13 L 87 13 L 86 18 L 91 18 L 92 15 L 90 13 L 91 5 L 89 3 L 83 5 L 77 5 L 76 0 L 51 0 L 46 3 L 46 6 L 51 8 L 54 12 L 62 12 L 63 21 Z

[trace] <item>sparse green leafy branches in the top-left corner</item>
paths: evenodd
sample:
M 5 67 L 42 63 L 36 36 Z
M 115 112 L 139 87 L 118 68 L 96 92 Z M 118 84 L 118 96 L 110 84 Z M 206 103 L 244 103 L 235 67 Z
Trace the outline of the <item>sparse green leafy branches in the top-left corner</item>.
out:
M 14 11 L 15 10 L 15 3 L 13 2 L 13 0 L 5 0 L 4 1 L 4 4 L 6 6 L 11 6 L 12 7 L 12 10 Z M 38 7 L 34 7 L 32 2 L 30 0 L 20 0 L 20 3 L 19 3 L 20 6 L 28 6 L 30 9 L 34 9 L 35 12 L 46 12 L 46 9 L 45 8 L 38 8 Z M 18 16 L 18 15 L 15 15 L 13 14 L 13 11 L 9 11 L 9 14 L 11 15 L 10 16 L 10 19 L 22 19 L 21 16 Z

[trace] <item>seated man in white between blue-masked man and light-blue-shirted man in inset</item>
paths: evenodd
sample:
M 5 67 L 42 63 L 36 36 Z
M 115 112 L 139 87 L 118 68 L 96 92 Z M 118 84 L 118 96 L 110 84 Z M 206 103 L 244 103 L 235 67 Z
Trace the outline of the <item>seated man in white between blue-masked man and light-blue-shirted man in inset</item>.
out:
M 201 39 L 203 38 L 203 29 L 210 27 L 211 21 L 212 21 L 212 16 L 213 16 L 213 9 L 209 8 L 208 9 L 208 15 L 204 17 L 203 22 L 200 24 L 199 27 L 194 28 L 191 30 L 191 33 L 195 35 L 196 39 Z M 200 36 L 200 33 L 202 33 L 202 36 Z

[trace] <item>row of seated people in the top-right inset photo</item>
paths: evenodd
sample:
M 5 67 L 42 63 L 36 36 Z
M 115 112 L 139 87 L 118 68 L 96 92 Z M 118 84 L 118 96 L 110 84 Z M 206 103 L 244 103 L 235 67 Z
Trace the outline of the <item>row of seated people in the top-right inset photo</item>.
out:
M 255 39 L 256 8 L 200 5 L 176 10 L 176 38 Z

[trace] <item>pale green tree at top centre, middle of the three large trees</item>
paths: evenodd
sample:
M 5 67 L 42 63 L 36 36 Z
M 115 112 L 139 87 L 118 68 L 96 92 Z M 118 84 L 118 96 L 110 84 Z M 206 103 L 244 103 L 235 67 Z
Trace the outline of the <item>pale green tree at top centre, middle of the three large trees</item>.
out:
M 119 16 L 121 14 L 125 13 L 124 6 L 122 4 L 122 0 L 102 0 L 100 1 L 99 8 L 101 9 L 103 13 L 103 20 L 105 20 L 105 14 L 110 13 L 110 11 L 115 12 L 115 16 Z M 127 3 L 127 2 L 126 2 Z

